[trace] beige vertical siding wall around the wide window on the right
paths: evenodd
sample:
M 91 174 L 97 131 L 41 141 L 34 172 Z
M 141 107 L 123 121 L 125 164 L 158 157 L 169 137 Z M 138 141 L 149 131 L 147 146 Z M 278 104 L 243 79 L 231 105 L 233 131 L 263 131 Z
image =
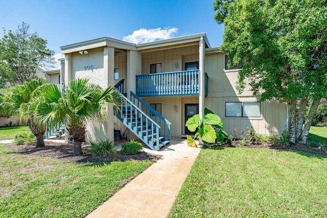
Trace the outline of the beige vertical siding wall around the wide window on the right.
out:
M 287 105 L 276 101 L 261 102 L 260 117 L 226 117 L 226 102 L 259 102 L 260 96 L 253 96 L 246 86 L 239 94 L 235 88 L 238 70 L 225 70 L 225 54 L 212 53 L 205 56 L 205 72 L 208 74 L 208 96 L 205 107 L 218 114 L 224 123 L 224 130 L 230 135 L 234 128 L 238 136 L 247 127 L 254 127 L 256 133 L 264 135 L 281 135 L 287 125 Z

